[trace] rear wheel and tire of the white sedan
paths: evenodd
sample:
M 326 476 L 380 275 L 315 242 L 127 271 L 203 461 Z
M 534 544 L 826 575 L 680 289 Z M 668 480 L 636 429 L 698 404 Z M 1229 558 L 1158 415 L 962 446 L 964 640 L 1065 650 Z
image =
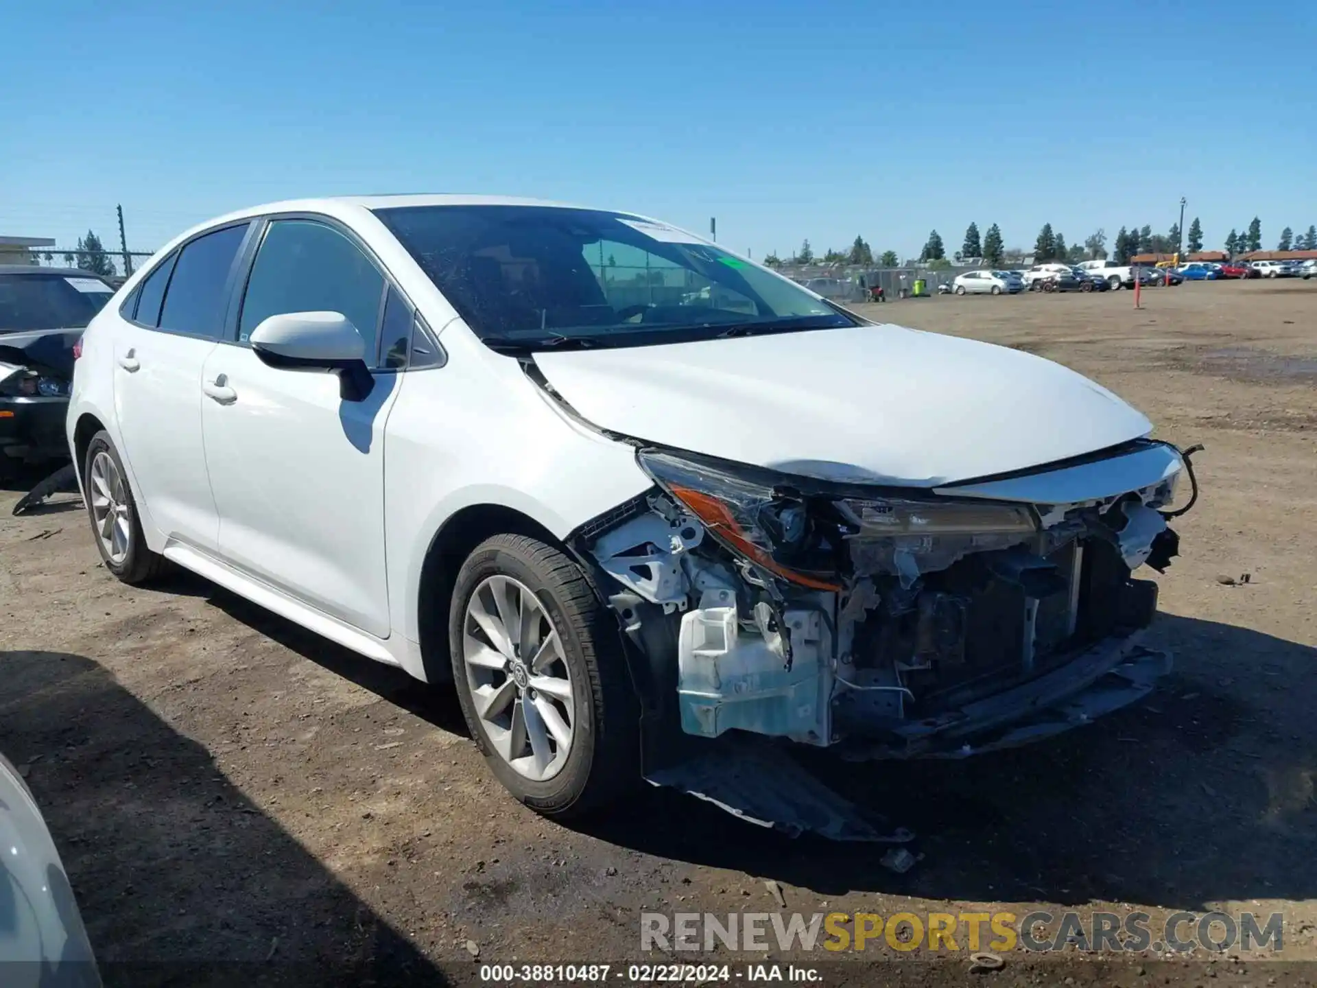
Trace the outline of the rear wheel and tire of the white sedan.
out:
M 132 586 L 159 576 L 165 568 L 165 557 L 146 545 L 128 472 L 104 429 L 87 444 L 83 498 L 87 501 L 87 518 L 105 569 Z

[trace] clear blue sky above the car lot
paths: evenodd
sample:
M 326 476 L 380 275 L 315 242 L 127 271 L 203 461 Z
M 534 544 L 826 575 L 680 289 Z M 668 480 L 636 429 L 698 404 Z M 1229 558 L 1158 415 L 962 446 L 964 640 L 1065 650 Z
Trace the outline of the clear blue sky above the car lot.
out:
M 0 233 L 62 245 L 390 191 L 716 216 L 756 258 L 1110 244 L 1181 195 L 1209 248 L 1317 224 L 1317 4 L 12 3 Z

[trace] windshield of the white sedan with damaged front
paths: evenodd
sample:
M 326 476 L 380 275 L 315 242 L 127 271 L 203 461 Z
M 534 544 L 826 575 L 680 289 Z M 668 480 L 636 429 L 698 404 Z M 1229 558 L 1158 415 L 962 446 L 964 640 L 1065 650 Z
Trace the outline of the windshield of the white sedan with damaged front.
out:
M 375 215 L 466 324 L 500 350 L 856 324 L 757 265 L 626 213 L 421 206 Z

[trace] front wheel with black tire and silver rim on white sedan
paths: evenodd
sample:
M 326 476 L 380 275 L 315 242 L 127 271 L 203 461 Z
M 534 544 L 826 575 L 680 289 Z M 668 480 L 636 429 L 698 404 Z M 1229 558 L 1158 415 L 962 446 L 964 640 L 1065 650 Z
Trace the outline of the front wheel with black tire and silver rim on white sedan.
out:
M 549 817 L 589 813 L 639 779 L 639 709 L 612 614 L 558 549 L 495 535 L 457 573 L 457 697 L 494 776 Z

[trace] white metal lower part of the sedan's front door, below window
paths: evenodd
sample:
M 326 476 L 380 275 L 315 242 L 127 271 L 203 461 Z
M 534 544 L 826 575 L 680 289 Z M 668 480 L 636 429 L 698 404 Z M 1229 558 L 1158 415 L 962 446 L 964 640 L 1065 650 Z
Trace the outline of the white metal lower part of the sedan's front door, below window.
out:
M 236 395 L 202 402 L 220 557 L 377 638 L 390 634 L 385 427 L 406 377 L 377 374 L 365 400 L 345 402 L 337 375 L 230 344 L 203 374 Z

